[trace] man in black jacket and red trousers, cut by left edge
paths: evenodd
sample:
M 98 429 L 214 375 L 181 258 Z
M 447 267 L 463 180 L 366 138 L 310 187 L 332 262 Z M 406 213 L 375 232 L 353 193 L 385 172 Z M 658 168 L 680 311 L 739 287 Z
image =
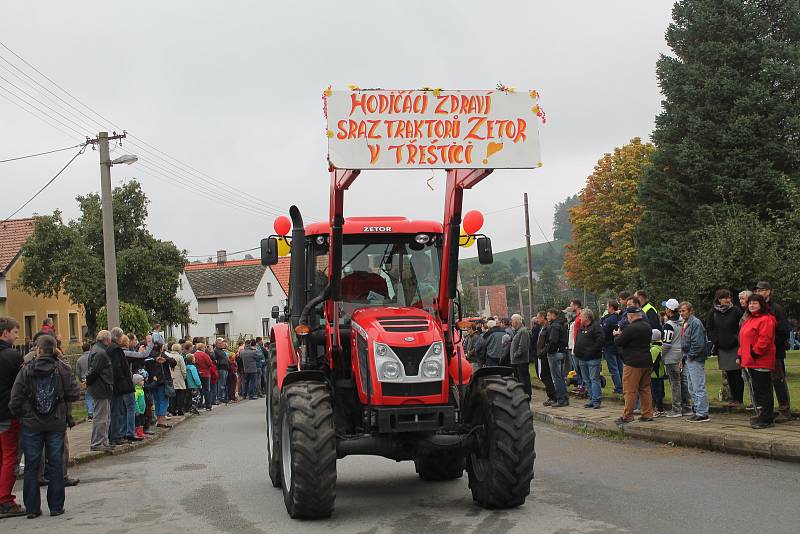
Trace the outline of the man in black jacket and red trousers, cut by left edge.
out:
M 14 348 L 18 337 L 17 320 L 0 317 L 0 518 L 25 515 L 11 493 L 17 479 L 20 422 L 8 409 L 8 403 L 14 380 L 22 367 L 22 354 Z

